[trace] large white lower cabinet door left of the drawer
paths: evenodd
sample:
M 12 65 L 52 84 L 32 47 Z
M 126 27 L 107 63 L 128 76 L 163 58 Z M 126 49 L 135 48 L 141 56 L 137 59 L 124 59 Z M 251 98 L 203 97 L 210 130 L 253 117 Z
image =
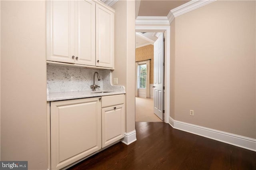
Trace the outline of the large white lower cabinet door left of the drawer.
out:
M 51 102 L 51 169 L 60 169 L 100 150 L 99 97 Z

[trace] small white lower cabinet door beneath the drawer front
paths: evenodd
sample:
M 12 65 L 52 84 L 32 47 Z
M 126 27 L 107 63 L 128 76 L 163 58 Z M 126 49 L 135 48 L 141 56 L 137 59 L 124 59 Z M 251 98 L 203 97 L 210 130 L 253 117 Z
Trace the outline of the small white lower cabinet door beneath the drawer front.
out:
M 102 148 L 124 137 L 124 105 L 102 108 Z

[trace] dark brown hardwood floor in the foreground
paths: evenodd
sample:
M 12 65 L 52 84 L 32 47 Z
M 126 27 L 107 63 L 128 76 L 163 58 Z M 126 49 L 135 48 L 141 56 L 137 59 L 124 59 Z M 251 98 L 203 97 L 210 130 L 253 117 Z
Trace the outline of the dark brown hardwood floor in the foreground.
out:
M 119 142 L 69 170 L 256 170 L 256 152 L 176 130 L 136 122 L 137 141 Z

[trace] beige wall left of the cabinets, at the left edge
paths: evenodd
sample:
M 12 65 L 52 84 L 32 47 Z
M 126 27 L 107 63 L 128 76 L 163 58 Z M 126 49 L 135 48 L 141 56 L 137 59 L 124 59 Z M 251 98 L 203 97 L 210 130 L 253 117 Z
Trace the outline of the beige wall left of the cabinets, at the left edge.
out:
M 1 160 L 46 170 L 45 1 L 1 1 L 1 56 Z

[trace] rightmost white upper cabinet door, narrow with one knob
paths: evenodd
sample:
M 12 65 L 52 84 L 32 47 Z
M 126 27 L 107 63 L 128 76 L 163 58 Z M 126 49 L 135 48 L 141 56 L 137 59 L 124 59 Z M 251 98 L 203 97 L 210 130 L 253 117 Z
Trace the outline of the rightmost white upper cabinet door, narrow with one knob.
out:
M 114 13 L 96 4 L 96 66 L 114 67 Z

